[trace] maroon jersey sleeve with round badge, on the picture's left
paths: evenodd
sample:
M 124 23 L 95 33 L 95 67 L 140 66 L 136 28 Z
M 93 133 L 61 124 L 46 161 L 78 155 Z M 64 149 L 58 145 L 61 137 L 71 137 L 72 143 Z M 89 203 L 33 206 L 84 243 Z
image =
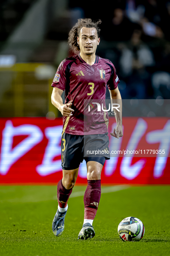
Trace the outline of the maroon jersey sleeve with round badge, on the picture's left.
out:
M 58 67 L 58 70 L 51 84 L 52 87 L 57 87 L 63 91 L 66 88 L 66 65 L 64 64 L 65 60 L 60 63 L 60 66 Z

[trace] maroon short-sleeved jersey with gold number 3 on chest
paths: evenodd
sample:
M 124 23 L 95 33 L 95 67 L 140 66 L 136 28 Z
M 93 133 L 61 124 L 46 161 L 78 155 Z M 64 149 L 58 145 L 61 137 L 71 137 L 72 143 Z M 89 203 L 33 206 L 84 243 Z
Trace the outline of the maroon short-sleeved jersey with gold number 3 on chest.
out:
M 65 90 L 65 104 L 72 103 L 71 108 L 74 109 L 72 116 L 63 116 L 63 132 L 74 135 L 107 132 L 106 115 L 93 116 L 92 129 L 88 124 L 84 128 L 84 100 L 87 103 L 88 100 L 93 99 L 104 100 L 106 85 L 108 89 L 114 90 L 119 82 L 114 65 L 107 59 L 96 56 L 92 66 L 87 64 L 80 55 L 64 59 L 51 85 Z

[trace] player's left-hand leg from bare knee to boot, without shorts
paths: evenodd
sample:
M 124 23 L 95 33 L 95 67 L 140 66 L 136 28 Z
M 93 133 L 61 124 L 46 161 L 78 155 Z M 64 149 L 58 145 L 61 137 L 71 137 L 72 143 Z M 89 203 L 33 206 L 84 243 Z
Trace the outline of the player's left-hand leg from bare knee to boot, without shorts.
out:
M 71 195 L 72 188 L 75 185 L 78 170 L 63 170 L 63 178 L 57 185 L 58 210 L 54 216 L 52 229 L 55 236 L 61 236 L 64 231 L 64 219 L 68 210 L 68 199 Z

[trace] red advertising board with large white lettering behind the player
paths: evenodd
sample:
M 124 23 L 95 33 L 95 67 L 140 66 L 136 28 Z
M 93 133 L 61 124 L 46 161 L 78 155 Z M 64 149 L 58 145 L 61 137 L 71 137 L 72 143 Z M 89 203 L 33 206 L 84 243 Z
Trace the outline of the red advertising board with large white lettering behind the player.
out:
M 170 184 L 170 120 L 167 117 L 123 117 L 123 137 L 110 136 L 110 160 L 102 184 Z M 0 119 L 0 184 L 56 184 L 62 178 L 62 118 Z M 87 183 L 85 161 L 77 183 Z

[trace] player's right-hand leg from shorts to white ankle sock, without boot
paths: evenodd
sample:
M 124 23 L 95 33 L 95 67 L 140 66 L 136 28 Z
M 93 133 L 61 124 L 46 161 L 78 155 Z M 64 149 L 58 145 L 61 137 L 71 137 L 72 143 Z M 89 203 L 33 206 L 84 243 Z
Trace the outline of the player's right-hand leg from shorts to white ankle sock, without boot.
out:
M 95 218 L 100 196 L 101 196 L 101 171 L 106 159 L 110 158 L 109 153 L 109 137 L 108 133 L 105 134 L 92 134 L 84 136 L 84 148 L 85 153 L 87 150 L 89 152 L 94 149 L 98 149 L 97 152 L 99 155 L 88 155 L 85 157 L 87 164 L 87 189 L 84 195 L 84 205 L 85 205 L 85 214 L 84 214 L 84 224 L 93 223 Z M 92 150 L 93 149 L 93 150 Z M 100 155 L 102 154 L 102 155 Z M 89 193 L 90 191 L 90 193 Z

